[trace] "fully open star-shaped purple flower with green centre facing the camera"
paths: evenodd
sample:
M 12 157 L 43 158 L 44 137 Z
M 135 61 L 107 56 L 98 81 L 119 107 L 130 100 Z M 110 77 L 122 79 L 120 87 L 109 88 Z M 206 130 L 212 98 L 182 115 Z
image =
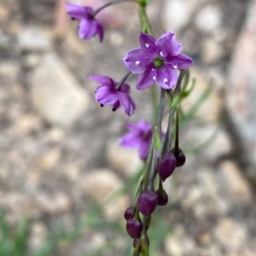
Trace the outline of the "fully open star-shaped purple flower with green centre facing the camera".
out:
M 172 32 L 166 32 L 157 40 L 141 33 L 139 41 L 141 48 L 132 49 L 123 58 L 125 66 L 139 74 L 138 90 L 154 83 L 163 89 L 171 89 L 177 84 L 177 69 L 187 68 L 193 62 L 189 56 L 181 54 L 182 45 Z

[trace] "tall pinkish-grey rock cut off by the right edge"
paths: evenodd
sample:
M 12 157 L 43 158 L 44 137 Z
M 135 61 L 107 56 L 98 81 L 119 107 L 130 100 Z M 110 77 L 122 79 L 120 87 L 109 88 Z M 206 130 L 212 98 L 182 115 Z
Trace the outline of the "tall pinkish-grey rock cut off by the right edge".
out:
M 234 140 L 241 137 L 241 154 L 247 166 L 246 175 L 256 183 L 256 2 L 247 9 L 245 26 L 241 28 L 226 84 L 226 102 L 236 128 Z

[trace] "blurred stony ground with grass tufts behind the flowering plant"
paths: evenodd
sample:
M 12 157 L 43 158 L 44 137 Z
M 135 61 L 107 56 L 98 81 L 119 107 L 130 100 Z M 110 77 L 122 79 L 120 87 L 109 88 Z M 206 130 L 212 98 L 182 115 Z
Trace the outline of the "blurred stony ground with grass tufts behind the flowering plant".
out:
M 150 95 L 129 78 L 129 118 L 101 108 L 86 76 L 124 76 L 121 60 L 139 45 L 137 4 L 98 15 L 101 44 L 79 39 L 65 3 L 0 0 L 1 256 L 131 255 L 123 213 L 142 163 L 118 139 L 126 122 L 152 122 Z M 151 255 L 255 255 L 255 14 L 255 0 L 148 6 L 155 38 L 175 32 L 196 79 L 182 102 L 187 162 L 164 183 L 169 203 L 154 212 Z

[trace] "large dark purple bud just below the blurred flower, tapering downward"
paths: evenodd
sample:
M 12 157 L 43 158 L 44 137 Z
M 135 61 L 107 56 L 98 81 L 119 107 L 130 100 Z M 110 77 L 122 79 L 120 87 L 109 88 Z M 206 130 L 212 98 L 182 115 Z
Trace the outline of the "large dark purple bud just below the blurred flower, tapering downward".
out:
M 174 172 L 176 165 L 177 160 L 172 152 L 162 155 L 162 158 L 156 167 L 162 181 L 165 181 L 167 177 L 170 177 L 172 175 L 172 172 Z

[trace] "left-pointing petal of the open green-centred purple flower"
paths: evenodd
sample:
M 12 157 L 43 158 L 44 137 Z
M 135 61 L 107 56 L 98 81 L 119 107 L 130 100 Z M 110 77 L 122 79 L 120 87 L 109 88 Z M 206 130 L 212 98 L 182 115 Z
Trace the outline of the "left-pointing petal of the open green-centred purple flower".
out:
M 123 58 L 123 63 L 132 73 L 143 73 L 145 69 L 152 65 L 154 56 L 148 54 L 147 49 L 132 49 Z

